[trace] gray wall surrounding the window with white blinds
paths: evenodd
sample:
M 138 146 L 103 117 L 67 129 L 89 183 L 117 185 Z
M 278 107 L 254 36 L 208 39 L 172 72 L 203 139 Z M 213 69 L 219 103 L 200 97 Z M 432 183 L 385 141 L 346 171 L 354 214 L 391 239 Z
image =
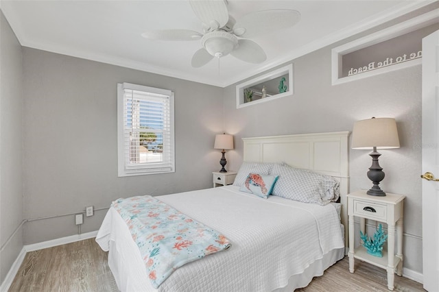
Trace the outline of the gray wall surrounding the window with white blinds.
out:
M 23 48 L 24 214 L 26 219 L 108 208 L 133 195 L 209 188 L 219 169 L 222 88 Z M 117 177 L 117 83 L 175 93 L 176 172 Z M 106 209 L 84 217 L 98 230 Z M 74 216 L 29 221 L 25 244 L 78 233 Z

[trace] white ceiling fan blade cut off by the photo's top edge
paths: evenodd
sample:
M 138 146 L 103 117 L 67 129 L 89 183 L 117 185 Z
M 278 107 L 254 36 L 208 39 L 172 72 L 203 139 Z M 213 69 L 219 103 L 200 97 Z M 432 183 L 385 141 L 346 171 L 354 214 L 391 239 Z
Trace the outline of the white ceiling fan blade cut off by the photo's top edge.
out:
M 195 15 L 205 25 L 218 29 L 226 25 L 228 10 L 224 0 L 191 0 L 191 7 Z

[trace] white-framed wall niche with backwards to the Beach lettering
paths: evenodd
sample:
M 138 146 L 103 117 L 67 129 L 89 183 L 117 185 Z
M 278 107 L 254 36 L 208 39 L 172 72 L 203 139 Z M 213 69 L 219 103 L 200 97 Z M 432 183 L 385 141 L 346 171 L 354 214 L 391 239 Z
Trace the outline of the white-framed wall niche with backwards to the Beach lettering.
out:
M 421 64 L 422 39 L 439 29 L 439 9 L 332 49 L 332 84 Z

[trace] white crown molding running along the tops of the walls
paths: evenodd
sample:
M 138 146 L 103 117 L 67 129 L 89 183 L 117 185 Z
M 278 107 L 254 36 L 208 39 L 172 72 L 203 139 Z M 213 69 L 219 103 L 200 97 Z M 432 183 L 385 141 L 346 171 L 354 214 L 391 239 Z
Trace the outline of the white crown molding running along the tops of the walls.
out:
M 215 79 L 215 78 L 203 77 L 195 74 L 189 74 L 187 72 L 167 69 L 161 66 L 154 66 L 151 64 L 129 60 L 126 58 L 117 58 L 114 56 L 102 55 L 100 53 L 99 54 L 93 53 L 92 51 L 80 51 L 77 49 L 72 49 L 70 47 L 61 47 L 53 43 L 45 43 L 45 42 L 38 42 L 37 40 L 30 40 L 29 37 L 25 36 L 25 33 L 23 32 L 23 29 L 20 25 L 19 19 L 14 18 L 15 15 L 14 13 L 8 12 L 8 5 L 3 3 L 3 5 L 0 6 L 0 9 L 5 15 L 8 22 L 10 23 L 11 27 L 13 27 L 14 34 L 16 35 L 16 38 L 19 40 L 20 44 L 23 47 L 30 47 L 33 49 L 50 51 L 52 53 L 60 53 L 63 55 L 73 56 L 76 58 L 82 58 L 86 60 L 92 60 L 95 62 L 102 62 L 105 64 L 122 66 L 129 69 L 135 69 L 135 70 L 155 73 L 159 75 L 166 75 L 168 77 L 174 77 L 182 80 L 188 80 L 191 82 L 198 82 L 202 84 L 208 84 L 208 85 L 224 88 L 226 86 L 230 86 L 237 82 L 241 82 L 242 80 L 245 80 L 259 73 L 263 73 L 264 71 L 270 70 L 275 66 L 279 66 L 281 64 L 291 62 L 292 60 L 300 56 L 304 56 L 307 53 L 311 53 L 312 51 L 316 51 L 318 49 L 321 49 L 322 47 L 331 45 L 334 42 L 338 42 L 340 40 L 344 40 L 345 38 L 348 38 L 349 36 L 353 36 L 360 32 L 364 32 L 366 29 L 377 27 L 378 25 L 381 25 L 387 21 L 396 19 L 399 16 L 403 16 L 407 13 L 423 8 L 426 5 L 429 5 L 434 2 L 437 2 L 437 0 L 410 1 L 409 3 L 406 2 L 401 3 L 400 5 L 393 7 L 389 10 L 385 10 L 380 14 L 371 16 L 368 19 L 357 23 L 357 25 L 351 25 L 350 27 L 346 27 L 346 29 L 342 29 L 333 34 L 329 34 L 324 38 L 320 38 L 319 40 L 315 40 L 307 45 L 299 47 L 298 49 L 293 50 L 287 56 L 284 56 L 283 58 L 276 58 L 270 62 L 266 62 L 262 64 L 261 66 L 256 66 L 251 70 L 244 71 L 239 75 L 235 75 L 233 77 L 229 77 L 223 80 L 217 80 L 217 78 Z

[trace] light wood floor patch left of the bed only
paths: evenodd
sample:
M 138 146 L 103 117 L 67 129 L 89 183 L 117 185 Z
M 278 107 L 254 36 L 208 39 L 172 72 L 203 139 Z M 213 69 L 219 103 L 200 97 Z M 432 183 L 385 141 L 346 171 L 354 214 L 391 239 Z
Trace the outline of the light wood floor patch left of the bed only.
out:
M 9 291 L 118 291 L 95 239 L 28 252 Z

